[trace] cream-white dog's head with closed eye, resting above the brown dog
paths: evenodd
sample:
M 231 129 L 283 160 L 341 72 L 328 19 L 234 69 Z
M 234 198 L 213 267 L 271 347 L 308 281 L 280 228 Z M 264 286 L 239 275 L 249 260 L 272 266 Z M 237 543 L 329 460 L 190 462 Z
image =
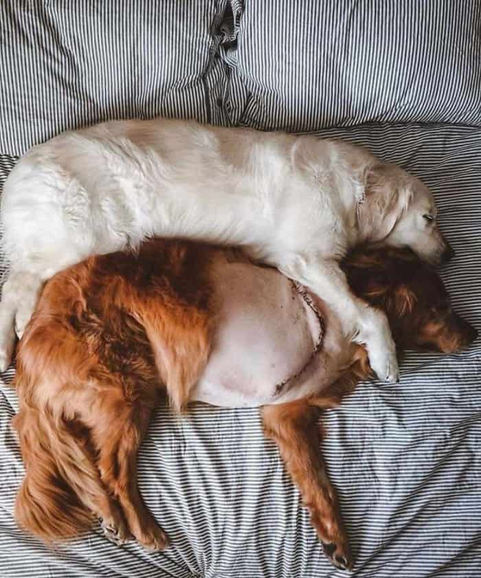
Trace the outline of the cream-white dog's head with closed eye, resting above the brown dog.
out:
M 447 263 L 454 255 L 438 227 L 431 192 L 399 166 L 385 163 L 368 170 L 362 204 L 366 205 L 361 205 L 364 219 L 370 219 L 379 245 L 410 247 L 432 265 Z

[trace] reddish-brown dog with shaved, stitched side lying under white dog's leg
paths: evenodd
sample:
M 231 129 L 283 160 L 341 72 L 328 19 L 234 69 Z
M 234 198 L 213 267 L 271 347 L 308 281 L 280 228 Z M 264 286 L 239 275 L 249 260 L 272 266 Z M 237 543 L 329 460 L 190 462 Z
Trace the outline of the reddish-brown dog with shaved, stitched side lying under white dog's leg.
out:
M 451 311 L 437 274 L 412 253 L 358 251 L 346 260 L 344 270 L 357 296 L 387 313 L 399 346 L 458 351 L 476 337 Z M 250 396 L 251 405 L 263 405 L 265 433 L 278 445 L 300 488 L 326 555 L 336 566 L 351 566 L 320 455 L 317 418 L 319 408 L 333 407 L 359 379 L 370 377 L 366 351 L 337 331 L 335 318 L 320 300 L 306 300 L 278 271 L 197 243 L 150 241 L 137 256 L 90 258 L 45 285 L 17 356 L 20 411 L 14 425 L 26 468 L 16 498 L 21 526 L 48 541 L 78 534 L 96 517 L 117 542 L 133 535 L 147 548 L 166 546 L 166 535 L 137 490 L 137 449 L 161 394 L 167 394 L 177 410 L 195 399 L 216 403 L 217 394 L 222 403 L 216 405 L 234 403 L 229 388 L 235 377 L 225 380 L 225 390 L 219 386 L 212 391 L 216 379 L 202 380 L 209 366 L 223 359 L 221 328 L 232 327 L 234 335 L 245 329 L 247 309 L 234 315 L 234 322 L 229 317 L 238 305 L 233 297 L 238 275 L 252 275 L 241 284 L 238 297 L 251 309 L 265 304 L 262 299 L 271 296 L 273 287 L 281 287 L 298 308 L 296 327 L 302 325 L 301 314 L 311 315 L 302 335 L 309 342 L 306 328 L 314 328 L 313 350 L 298 373 L 294 365 L 289 379 L 275 388 L 268 384 L 271 389 L 262 382 L 244 391 L 243 399 Z M 254 301 L 249 301 L 245 291 L 252 287 L 256 291 L 248 297 Z M 269 288 L 265 294 L 263 287 Z M 254 307 L 253 319 L 259 315 Z M 286 346 L 297 339 L 290 329 L 284 332 Z M 227 337 L 232 340 L 231 334 Z M 243 346 L 240 341 L 239 357 L 258 352 L 258 344 Z M 262 366 L 262 359 L 258 364 Z M 330 370 L 323 364 L 331 364 Z M 317 378 L 322 383 L 313 389 Z M 265 390 L 269 394 L 262 397 Z

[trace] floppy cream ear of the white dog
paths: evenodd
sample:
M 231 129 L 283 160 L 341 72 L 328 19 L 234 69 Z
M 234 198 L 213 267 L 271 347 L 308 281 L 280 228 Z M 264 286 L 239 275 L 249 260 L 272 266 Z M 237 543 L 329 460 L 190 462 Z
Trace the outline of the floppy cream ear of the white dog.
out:
M 365 196 L 359 203 L 361 228 L 370 232 L 370 241 L 382 241 L 407 212 L 413 198 L 404 171 L 392 164 L 377 164 L 365 175 Z

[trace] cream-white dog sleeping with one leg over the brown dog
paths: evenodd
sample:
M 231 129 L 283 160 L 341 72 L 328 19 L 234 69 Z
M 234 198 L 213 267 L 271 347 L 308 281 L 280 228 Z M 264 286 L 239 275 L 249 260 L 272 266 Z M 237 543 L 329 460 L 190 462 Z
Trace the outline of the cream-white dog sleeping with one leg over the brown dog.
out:
M 429 190 L 362 148 L 161 119 L 106 122 L 36 146 L 5 183 L 1 217 L 11 265 L 1 370 L 47 278 L 157 235 L 242 245 L 321 296 L 377 375 L 396 380 L 388 321 L 350 293 L 338 262 L 359 243 L 407 245 L 432 263 L 451 253 Z

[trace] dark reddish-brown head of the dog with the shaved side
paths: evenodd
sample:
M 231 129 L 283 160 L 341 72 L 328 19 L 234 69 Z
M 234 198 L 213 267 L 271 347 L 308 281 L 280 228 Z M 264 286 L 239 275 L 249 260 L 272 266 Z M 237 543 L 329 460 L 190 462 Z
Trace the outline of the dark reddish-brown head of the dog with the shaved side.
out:
M 354 293 L 388 315 L 399 348 L 454 353 L 476 339 L 436 271 L 410 250 L 359 248 L 343 268 Z

